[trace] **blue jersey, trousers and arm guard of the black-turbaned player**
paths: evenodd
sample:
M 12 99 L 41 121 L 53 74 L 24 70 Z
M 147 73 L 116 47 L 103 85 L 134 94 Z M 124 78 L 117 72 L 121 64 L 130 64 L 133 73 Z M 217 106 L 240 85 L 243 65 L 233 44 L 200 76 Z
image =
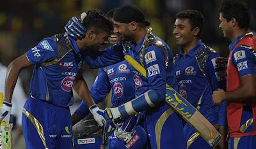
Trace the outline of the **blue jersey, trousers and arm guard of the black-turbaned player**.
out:
M 166 83 L 177 90 L 170 47 L 148 30 L 138 45 L 131 41 L 120 41 L 110 46 L 96 59 L 87 57 L 86 61 L 94 68 L 104 67 L 124 60 L 124 55 L 131 55 L 147 71 L 147 78 L 145 78 L 133 68 L 135 74 L 141 78 L 141 86 L 136 90 L 136 96 L 148 90 L 154 90 L 159 97 L 154 101 L 158 104 L 157 106 L 156 104 L 152 106 L 150 98 L 134 99 L 129 105 L 126 103 L 127 110 L 130 111 L 140 112 L 147 109 L 143 127 L 148 134 L 151 148 L 186 148 L 179 117 L 167 104 L 164 104 Z M 120 106 L 119 110 L 127 117 L 124 106 Z

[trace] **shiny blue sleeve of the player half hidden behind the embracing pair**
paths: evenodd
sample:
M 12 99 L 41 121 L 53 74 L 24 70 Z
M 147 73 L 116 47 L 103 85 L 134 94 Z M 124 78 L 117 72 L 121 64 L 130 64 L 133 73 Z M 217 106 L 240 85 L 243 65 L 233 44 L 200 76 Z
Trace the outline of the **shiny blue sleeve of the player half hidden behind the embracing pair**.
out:
M 90 94 L 95 101 L 95 103 L 100 103 L 104 101 L 106 96 L 108 96 L 109 91 L 111 89 L 108 75 L 104 71 L 104 69 L 100 68 L 98 71 L 97 78 L 93 83 L 92 89 L 90 89 Z

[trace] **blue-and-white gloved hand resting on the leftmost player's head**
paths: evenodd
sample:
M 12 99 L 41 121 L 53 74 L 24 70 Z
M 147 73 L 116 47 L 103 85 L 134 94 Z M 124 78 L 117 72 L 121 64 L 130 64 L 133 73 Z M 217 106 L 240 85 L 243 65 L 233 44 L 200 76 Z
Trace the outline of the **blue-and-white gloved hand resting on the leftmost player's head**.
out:
M 77 17 L 72 17 L 68 23 L 65 25 L 65 30 L 68 36 L 72 37 L 73 39 L 83 39 L 86 32 L 86 27 L 83 25 L 83 19 L 87 16 L 87 13 L 82 13 L 81 19 Z

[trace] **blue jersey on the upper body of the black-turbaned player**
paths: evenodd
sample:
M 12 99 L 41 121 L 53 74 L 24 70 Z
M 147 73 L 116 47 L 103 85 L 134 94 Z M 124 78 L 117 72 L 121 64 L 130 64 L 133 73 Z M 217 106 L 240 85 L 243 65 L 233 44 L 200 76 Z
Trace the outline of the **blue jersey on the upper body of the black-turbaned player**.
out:
M 159 48 L 159 46 L 148 46 L 143 52 L 143 57 L 140 57 L 141 46 L 143 45 L 141 39 L 138 45 L 129 42 L 125 43 L 120 41 L 113 46 L 110 46 L 105 52 L 102 53 L 97 59 L 87 57 L 86 60 L 90 67 L 104 67 L 114 64 L 118 61 L 124 60 L 124 55 L 131 55 L 137 62 L 145 66 L 147 70 L 147 78 L 143 77 L 138 71 L 134 69 L 134 73 L 141 78 L 141 87 L 136 90 L 136 96 L 140 96 L 147 90 L 156 90 L 160 101 L 165 99 L 166 83 L 177 90 L 177 80 L 173 72 L 173 54 L 170 47 L 161 39 L 163 46 L 166 50 Z

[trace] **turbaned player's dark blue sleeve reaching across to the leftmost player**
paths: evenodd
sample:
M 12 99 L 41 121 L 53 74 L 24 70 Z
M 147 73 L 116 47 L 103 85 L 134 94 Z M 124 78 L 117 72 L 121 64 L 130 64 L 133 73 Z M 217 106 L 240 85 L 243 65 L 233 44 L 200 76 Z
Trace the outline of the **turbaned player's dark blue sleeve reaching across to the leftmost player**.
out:
M 117 62 L 124 60 L 122 43 L 118 42 L 115 45 L 111 45 L 98 57 L 93 58 L 92 56 L 88 56 L 85 60 L 93 69 L 116 64 Z

